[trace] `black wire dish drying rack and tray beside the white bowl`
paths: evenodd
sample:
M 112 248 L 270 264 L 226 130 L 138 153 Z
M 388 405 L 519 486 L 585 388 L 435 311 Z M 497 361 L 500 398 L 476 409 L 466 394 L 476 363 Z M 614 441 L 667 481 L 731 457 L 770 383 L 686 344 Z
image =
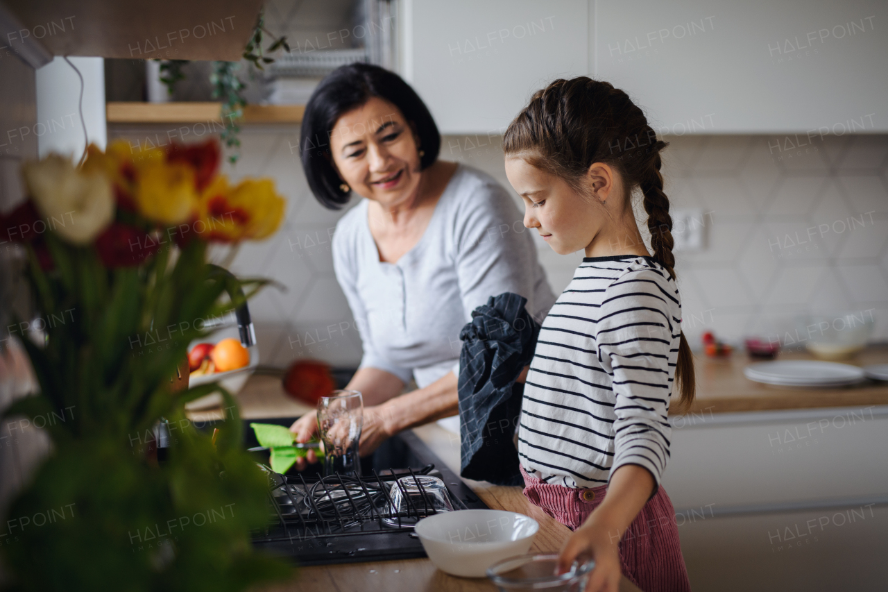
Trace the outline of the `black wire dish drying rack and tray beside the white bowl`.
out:
M 266 421 L 289 425 L 295 419 Z M 245 444 L 256 443 L 248 439 Z M 266 468 L 269 523 L 252 532 L 253 547 L 301 565 L 424 557 L 422 543 L 412 528 L 434 514 L 430 494 L 422 487 L 424 476 L 441 479 L 446 488 L 443 493 L 454 510 L 487 508 L 412 432 L 392 436 L 362 460 L 364 476 L 360 479 L 322 477 L 314 470 L 280 475 Z M 400 496 L 408 499 L 402 511 L 392 512 L 390 490 L 398 479 L 406 482 L 410 494 Z

